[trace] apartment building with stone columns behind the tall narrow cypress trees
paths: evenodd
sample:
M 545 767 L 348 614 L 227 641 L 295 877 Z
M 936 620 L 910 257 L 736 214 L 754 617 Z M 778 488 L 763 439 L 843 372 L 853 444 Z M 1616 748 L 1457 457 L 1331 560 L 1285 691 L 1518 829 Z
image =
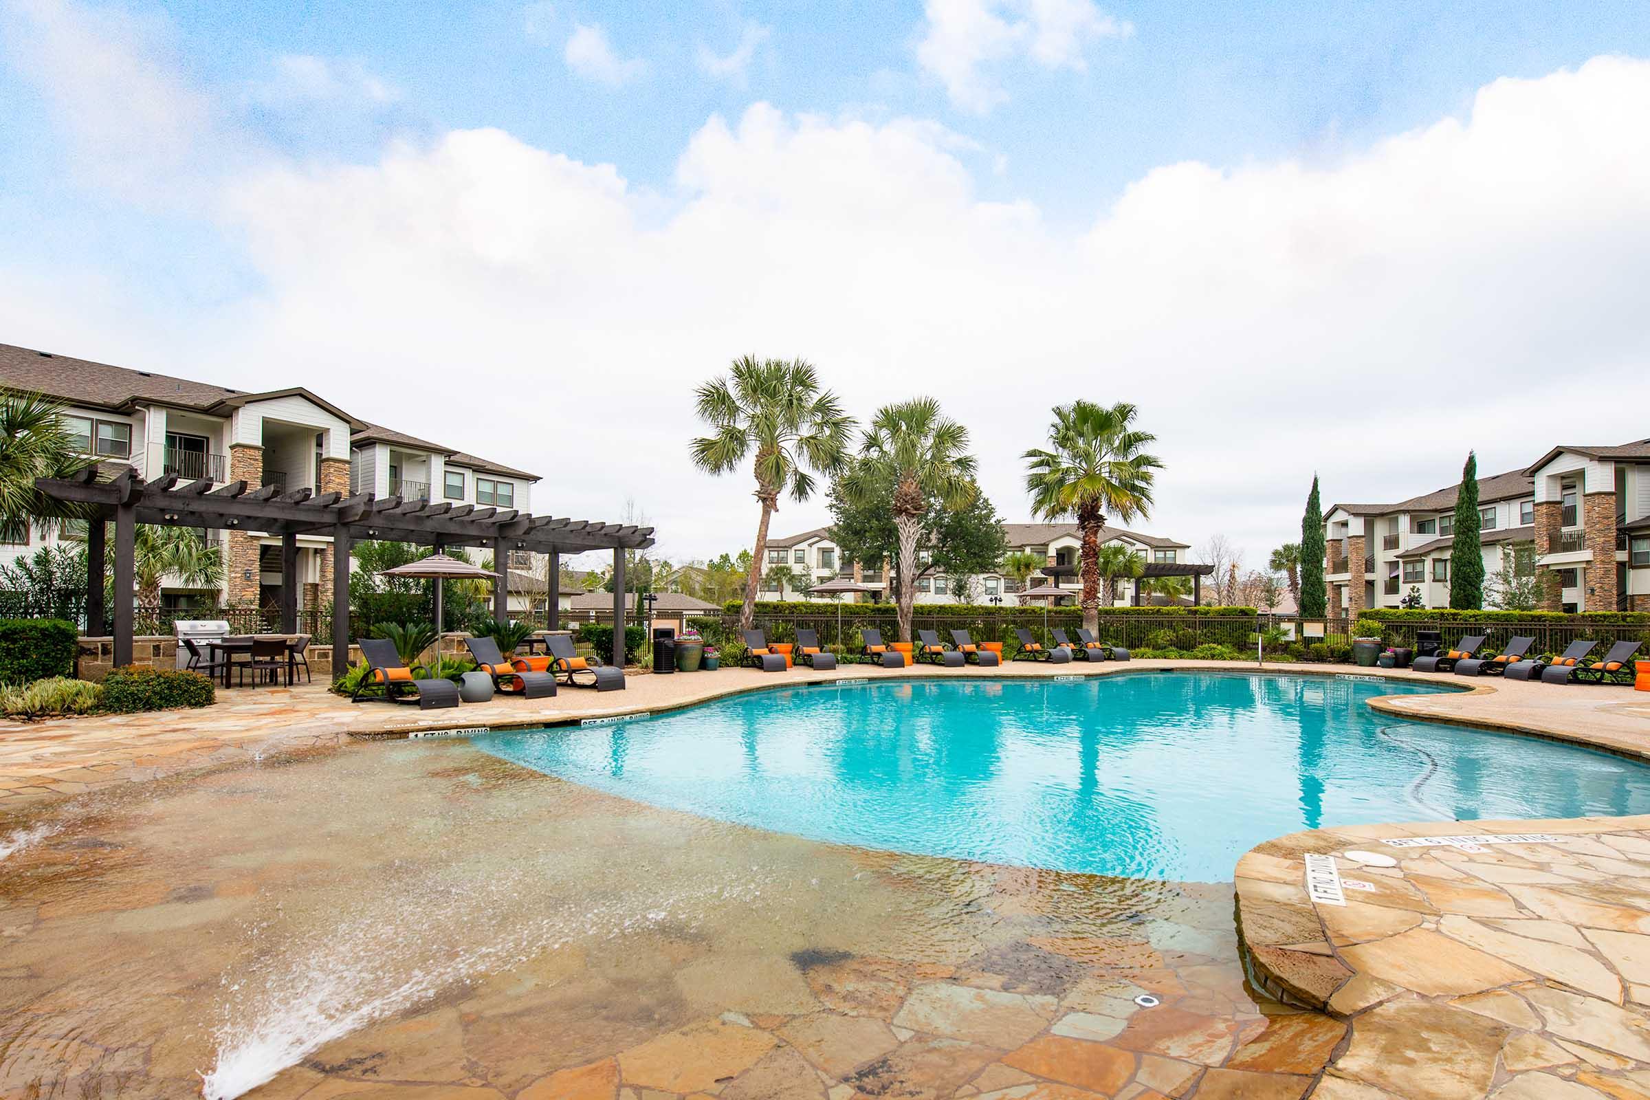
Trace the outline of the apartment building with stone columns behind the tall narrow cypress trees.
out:
M 1460 485 L 1393 505 L 1333 505 L 1325 523 L 1330 615 L 1449 607 Z M 1650 440 L 1554 447 L 1534 465 L 1478 478 L 1485 576 L 1511 551 L 1541 576 L 1546 610 L 1650 610 Z M 1551 581 L 1546 577 L 1551 576 Z

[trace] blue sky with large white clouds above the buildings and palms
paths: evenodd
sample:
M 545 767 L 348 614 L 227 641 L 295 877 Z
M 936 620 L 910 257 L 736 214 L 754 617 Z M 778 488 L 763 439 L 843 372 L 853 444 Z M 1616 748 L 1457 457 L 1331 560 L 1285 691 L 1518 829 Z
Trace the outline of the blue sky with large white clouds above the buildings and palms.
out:
M 1011 521 L 1130 401 L 1127 526 L 1259 566 L 1313 473 L 1650 437 L 1645 117 L 1637 0 L 0 0 L 0 341 L 309 386 L 673 561 L 754 536 L 686 460 L 738 356 L 936 396 Z

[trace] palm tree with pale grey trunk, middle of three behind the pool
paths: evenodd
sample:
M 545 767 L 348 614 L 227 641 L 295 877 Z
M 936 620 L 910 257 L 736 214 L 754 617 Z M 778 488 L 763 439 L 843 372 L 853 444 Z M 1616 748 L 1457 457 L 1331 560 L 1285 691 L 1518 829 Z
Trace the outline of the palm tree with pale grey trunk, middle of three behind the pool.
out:
M 934 397 L 912 397 L 883 406 L 860 447 L 860 460 L 842 478 L 853 503 L 871 500 L 878 487 L 893 485 L 894 531 L 899 539 L 899 589 L 896 612 L 899 640 L 911 640 L 911 605 L 917 597 L 917 541 L 922 518 L 936 501 L 957 511 L 974 503 L 974 455 L 969 429 L 945 419 Z

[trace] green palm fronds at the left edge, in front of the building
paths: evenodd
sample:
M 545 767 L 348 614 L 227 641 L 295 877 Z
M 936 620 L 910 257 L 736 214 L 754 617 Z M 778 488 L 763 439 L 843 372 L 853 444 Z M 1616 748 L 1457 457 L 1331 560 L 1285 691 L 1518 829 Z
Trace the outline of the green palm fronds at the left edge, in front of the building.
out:
M 31 519 L 50 533 L 64 519 L 89 518 L 92 506 L 54 501 L 35 488 L 35 478 L 73 477 L 91 463 L 63 422 L 61 402 L 0 394 L 0 538 L 25 543 Z

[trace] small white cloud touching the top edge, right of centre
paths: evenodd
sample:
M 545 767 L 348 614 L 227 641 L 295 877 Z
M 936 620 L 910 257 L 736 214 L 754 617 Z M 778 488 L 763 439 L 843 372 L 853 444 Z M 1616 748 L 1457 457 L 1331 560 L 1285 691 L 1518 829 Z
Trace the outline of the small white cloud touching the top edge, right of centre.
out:
M 1092 0 L 927 0 L 917 63 L 945 84 L 952 104 L 985 114 L 1008 94 L 983 69 L 1026 58 L 1081 71 L 1091 43 L 1132 33 Z

